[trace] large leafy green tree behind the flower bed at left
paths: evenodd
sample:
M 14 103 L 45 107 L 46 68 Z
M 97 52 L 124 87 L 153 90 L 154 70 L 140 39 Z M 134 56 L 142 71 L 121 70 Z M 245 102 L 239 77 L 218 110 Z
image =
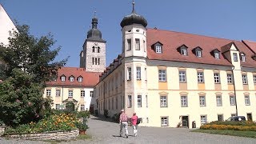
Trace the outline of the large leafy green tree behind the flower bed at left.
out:
M 16 27 L 18 31 L 10 32 L 9 44 L 0 44 L 0 120 L 9 126 L 42 118 L 42 109 L 50 102 L 42 98 L 46 82 L 67 61 L 54 62 L 60 47 L 54 49 L 52 35 L 35 38 L 29 26 Z

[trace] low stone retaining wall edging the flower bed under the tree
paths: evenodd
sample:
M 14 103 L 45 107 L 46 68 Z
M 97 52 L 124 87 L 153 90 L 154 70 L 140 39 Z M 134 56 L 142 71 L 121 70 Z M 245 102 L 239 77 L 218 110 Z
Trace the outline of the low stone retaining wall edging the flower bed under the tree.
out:
M 79 135 L 79 130 L 71 131 L 51 131 L 47 133 L 38 134 L 11 134 L 8 135 L 10 138 L 21 138 L 30 140 L 69 140 L 76 138 Z

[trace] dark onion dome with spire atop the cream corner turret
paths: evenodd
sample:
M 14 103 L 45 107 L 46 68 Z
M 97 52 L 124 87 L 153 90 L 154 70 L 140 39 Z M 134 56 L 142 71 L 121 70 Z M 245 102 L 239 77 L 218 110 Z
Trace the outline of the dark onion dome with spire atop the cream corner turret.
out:
M 142 26 L 146 27 L 147 26 L 147 22 L 146 19 L 144 17 L 142 17 L 142 15 L 136 14 L 135 10 L 134 10 L 134 2 L 133 2 L 133 11 L 130 15 L 125 16 L 124 18 L 122 18 L 122 22 L 120 23 L 120 26 L 122 26 L 122 28 L 124 26 L 129 26 L 132 24 L 141 24 Z

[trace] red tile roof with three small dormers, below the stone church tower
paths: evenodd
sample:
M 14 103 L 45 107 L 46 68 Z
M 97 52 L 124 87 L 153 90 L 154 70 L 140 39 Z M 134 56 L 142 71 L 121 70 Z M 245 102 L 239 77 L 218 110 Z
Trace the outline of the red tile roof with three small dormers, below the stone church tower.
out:
M 88 72 L 85 68 L 62 67 L 58 70 L 57 81 L 46 82 L 47 86 L 88 86 L 93 87 L 98 83 L 101 73 Z M 66 76 L 66 81 L 61 81 L 61 76 Z M 74 76 L 74 82 L 70 82 L 69 77 Z M 82 76 L 82 82 L 78 82 L 78 77 Z

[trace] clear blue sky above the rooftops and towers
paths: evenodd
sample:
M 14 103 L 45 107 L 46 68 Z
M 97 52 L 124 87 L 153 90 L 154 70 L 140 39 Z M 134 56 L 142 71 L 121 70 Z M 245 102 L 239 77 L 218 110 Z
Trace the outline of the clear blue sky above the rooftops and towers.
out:
M 106 66 L 121 53 L 120 22 L 131 13 L 132 0 L 0 0 L 12 20 L 30 26 L 36 37 L 51 33 L 62 46 L 56 60 L 70 56 L 66 66 L 79 66 L 79 54 L 91 18 L 106 40 Z M 256 42 L 254 0 L 135 0 L 135 10 L 149 28 Z

